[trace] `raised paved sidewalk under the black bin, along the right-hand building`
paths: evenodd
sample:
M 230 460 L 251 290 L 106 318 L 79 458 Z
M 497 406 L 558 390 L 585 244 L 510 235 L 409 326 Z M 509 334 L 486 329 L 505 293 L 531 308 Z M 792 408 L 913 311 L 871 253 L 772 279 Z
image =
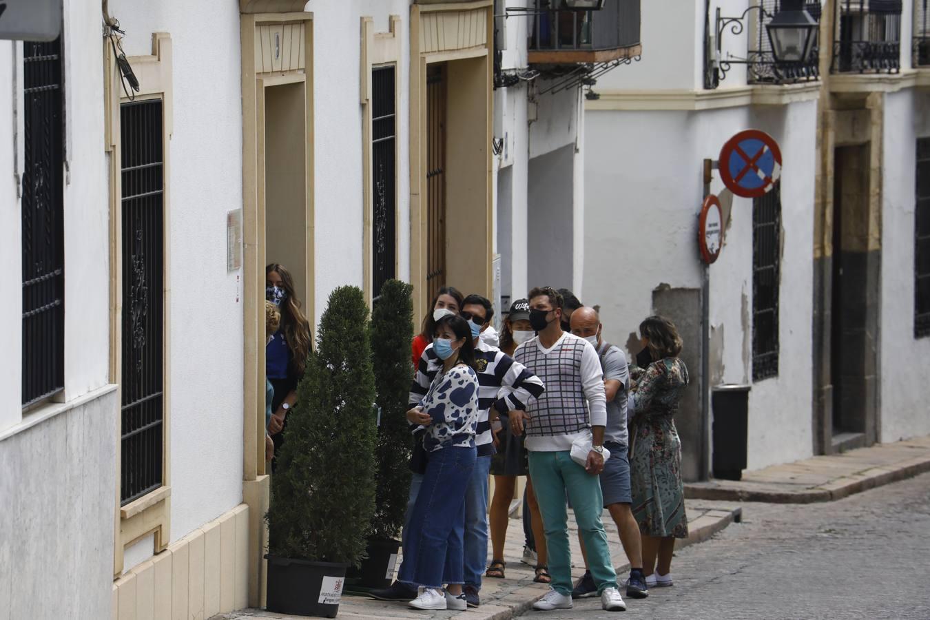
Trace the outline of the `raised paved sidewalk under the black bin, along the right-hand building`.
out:
M 830 502 L 924 471 L 930 471 L 930 436 L 775 465 L 746 472 L 741 481 L 693 482 L 684 485 L 684 496 L 731 502 Z

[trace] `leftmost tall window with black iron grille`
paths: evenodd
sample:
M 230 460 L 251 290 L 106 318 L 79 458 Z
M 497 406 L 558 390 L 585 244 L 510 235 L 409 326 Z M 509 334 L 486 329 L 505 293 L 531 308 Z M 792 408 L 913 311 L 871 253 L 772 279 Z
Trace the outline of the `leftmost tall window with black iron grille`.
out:
M 64 387 L 61 39 L 23 43 L 22 404 Z

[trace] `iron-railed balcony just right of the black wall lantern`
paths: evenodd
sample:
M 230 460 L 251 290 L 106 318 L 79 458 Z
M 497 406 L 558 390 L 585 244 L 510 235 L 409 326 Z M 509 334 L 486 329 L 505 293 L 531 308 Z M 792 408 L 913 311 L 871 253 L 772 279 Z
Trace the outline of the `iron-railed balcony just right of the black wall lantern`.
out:
M 840 0 L 833 73 L 897 73 L 901 69 L 901 0 Z

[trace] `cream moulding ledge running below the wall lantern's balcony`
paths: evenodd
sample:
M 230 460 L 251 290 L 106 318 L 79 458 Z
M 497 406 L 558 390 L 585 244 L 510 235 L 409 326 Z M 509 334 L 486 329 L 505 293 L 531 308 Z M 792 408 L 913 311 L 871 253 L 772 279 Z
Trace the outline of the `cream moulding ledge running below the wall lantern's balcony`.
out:
M 820 83 L 788 86 L 740 86 L 717 90 L 648 89 L 597 90 L 601 99 L 585 101 L 592 111 L 700 111 L 751 105 L 788 105 L 813 101 L 820 96 Z

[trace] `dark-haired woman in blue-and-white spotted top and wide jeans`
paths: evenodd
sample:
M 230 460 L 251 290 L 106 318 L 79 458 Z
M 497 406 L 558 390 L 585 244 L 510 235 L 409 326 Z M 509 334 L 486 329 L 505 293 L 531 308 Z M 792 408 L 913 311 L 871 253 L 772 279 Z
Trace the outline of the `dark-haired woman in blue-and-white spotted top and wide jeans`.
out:
M 430 458 L 404 535 L 404 563 L 397 578 L 419 587 L 414 609 L 463 611 L 465 491 L 477 450 L 478 376 L 472 329 L 460 316 L 435 322 L 432 348 L 443 361 L 429 391 L 407 412 L 426 429 Z M 445 592 L 443 584 L 446 585 Z

